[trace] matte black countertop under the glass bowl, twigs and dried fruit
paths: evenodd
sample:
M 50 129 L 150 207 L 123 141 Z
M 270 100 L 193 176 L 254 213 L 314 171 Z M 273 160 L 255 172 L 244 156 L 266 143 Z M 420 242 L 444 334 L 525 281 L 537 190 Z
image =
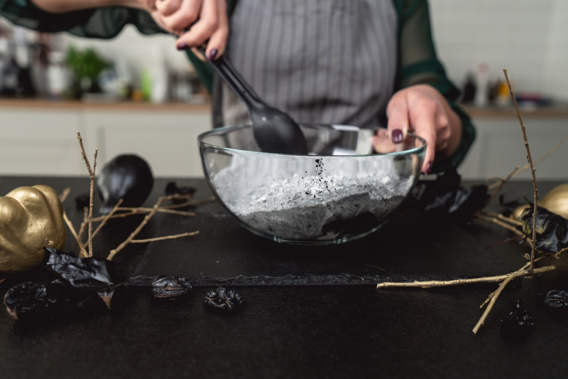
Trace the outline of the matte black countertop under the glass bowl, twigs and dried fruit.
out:
M 163 193 L 158 180 L 151 198 Z M 75 225 L 82 213 L 73 199 L 87 178 L 0 178 L 0 193 L 45 184 L 71 187 L 65 209 Z M 204 180 L 180 180 L 211 195 Z M 540 183 L 544 194 L 555 184 Z M 508 198 L 532 196 L 528 181 L 512 182 Z M 231 278 L 296 275 L 439 278 L 506 274 L 525 263 L 526 247 L 487 245 L 510 236 L 496 225 L 462 230 L 443 218 L 401 208 L 390 222 L 361 240 L 332 247 L 279 245 L 241 228 L 219 203 L 196 208 L 196 217 L 158 214 L 139 238 L 200 230 L 195 237 L 129 245 L 115 260 L 133 275 Z M 114 220 L 94 240 L 106 256 L 140 216 Z M 67 238 L 67 251 L 77 252 Z M 542 309 L 537 294 L 568 289 L 566 258 L 556 272 L 523 279 L 498 299 L 478 335 L 471 329 L 479 305 L 496 284 L 442 289 L 381 289 L 372 284 L 234 287 L 246 309 L 210 314 L 195 286 L 185 301 L 155 301 L 134 292 L 112 311 L 25 326 L 0 309 L 0 378 L 482 378 L 566 375 L 568 319 Z M 380 267 L 380 268 L 379 268 Z M 7 282 L 7 281 L 6 281 Z M 9 288 L 0 284 L 0 296 Z M 501 336 L 499 319 L 516 299 L 532 309 L 536 329 L 523 341 Z

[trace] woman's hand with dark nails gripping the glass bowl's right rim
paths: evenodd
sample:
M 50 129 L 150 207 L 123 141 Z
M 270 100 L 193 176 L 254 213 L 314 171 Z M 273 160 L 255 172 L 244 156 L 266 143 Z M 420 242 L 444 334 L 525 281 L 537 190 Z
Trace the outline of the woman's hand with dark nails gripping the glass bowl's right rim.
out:
M 461 119 L 434 87 L 413 85 L 396 92 L 386 108 L 387 131 L 373 139 L 377 151 L 395 151 L 408 132 L 427 142 L 422 172 L 428 174 L 432 162 L 451 156 L 461 141 Z M 389 146 L 390 145 L 390 146 Z

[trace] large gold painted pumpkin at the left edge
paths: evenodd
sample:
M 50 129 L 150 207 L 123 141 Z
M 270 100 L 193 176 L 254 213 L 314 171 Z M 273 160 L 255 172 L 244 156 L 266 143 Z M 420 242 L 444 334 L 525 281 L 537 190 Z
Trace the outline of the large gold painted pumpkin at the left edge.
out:
M 20 187 L 0 197 L 0 272 L 23 272 L 43 260 L 43 247 L 65 245 L 63 205 L 48 186 Z

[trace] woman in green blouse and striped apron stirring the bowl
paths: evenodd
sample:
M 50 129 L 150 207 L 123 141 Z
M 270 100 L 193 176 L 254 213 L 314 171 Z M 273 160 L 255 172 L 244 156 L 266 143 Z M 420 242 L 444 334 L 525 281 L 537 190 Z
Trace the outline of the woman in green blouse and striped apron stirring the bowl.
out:
M 426 174 L 461 163 L 475 137 L 436 58 L 426 0 L 6 0 L 0 14 L 94 38 L 114 37 L 126 23 L 177 35 L 177 48 L 214 87 L 215 124 L 247 115 L 189 51 L 203 43 L 209 60 L 226 53 L 269 105 L 298 122 L 386 122 L 377 149 L 420 135 Z

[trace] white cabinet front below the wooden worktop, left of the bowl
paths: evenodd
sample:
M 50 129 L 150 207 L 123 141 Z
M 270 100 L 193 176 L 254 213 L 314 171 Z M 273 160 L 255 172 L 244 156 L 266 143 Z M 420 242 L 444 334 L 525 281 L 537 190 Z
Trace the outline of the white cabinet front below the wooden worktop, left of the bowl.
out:
M 0 102 L 0 175 L 86 175 L 80 131 L 89 160 L 99 148 L 99 169 L 138 154 L 155 176 L 202 177 L 197 136 L 210 128 L 206 106 Z

